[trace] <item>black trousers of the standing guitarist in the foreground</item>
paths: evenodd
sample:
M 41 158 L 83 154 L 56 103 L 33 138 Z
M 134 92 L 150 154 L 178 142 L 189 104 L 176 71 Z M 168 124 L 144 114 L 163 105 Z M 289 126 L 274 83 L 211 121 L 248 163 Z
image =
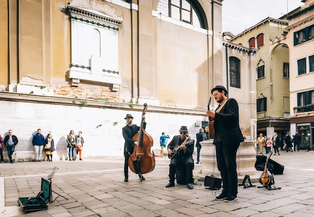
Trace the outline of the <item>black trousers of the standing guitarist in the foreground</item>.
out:
M 221 173 L 223 192 L 231 195 L 238 193 L 238 174 L 236 154 L 240 143 L 224 144 L 216 142 L 217 166 Z

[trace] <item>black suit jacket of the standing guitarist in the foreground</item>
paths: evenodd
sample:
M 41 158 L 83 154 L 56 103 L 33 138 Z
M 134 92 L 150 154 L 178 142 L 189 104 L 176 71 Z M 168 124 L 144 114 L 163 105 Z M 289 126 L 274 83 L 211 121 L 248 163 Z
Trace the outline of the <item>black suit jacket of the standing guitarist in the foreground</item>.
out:
M 215 114 L 214 129 L 214 144 L 240 144 L 244 141 L 239 126 L 239 106 L 235 99 L 229 98 L 222 110 Z

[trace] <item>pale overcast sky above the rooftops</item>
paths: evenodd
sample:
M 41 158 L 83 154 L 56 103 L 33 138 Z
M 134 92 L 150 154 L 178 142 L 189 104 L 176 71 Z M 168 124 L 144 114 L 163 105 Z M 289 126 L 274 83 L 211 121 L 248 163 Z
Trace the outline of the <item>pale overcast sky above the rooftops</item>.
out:
M 222 30 L 238 35 L 267 17 L 279 18 L 304 3 L 301 0 L 224 0 Z

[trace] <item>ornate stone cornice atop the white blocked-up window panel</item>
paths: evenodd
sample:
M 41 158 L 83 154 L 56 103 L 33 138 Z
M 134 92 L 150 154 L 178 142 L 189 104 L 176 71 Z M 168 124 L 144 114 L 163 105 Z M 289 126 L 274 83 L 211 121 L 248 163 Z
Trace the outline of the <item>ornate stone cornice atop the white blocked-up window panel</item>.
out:
M 68 6 L 67 9 L 71 15 L 70 16 L 71 20 L 84 22 L 86 24 L 95 25 L 101 28 L 112 29 L 114 31 L 118 31 L 119 30 L 118 27 L 122 24 L 122 21 L 118 21 L 113 18 L 109 18 L 104 15 L 99 15 L 83 9 L 74 8 L 71 6 Z

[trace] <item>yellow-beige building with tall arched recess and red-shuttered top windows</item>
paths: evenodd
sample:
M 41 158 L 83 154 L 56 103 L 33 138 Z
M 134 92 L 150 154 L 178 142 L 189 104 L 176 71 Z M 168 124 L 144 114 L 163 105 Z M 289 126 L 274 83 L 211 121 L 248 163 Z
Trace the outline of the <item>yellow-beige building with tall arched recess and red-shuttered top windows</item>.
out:
M 255 80 L 257 135 L 285 136 L 289 131 L 289 48 L 285 39 L 288 22 L 266 18 L 230 42 L 256 48 Z

